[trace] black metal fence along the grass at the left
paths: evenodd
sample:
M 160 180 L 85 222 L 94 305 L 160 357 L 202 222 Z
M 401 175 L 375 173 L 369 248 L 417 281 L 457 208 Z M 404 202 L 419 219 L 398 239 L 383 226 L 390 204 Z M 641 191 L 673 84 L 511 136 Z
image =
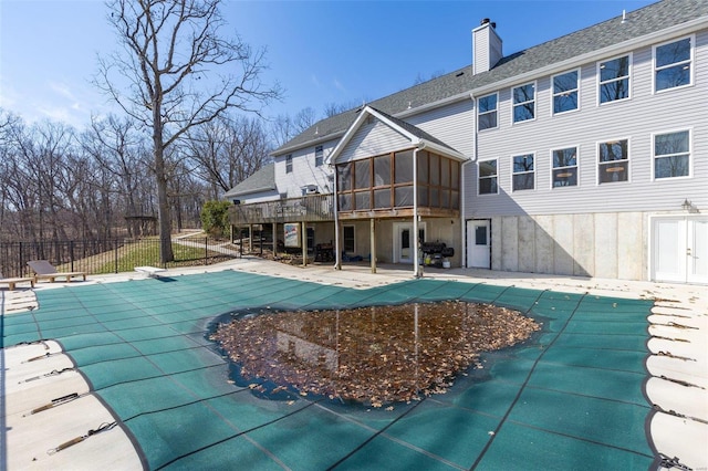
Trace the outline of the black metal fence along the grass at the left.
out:
M 46 260 L 59 271 L 104 274 L 128 272 L 144 265 L 209 265 L 239 257 L 237 248 L 205 237 L 173 241 L 173 252 L 174 262 L 160 263 L 156 238 L 0 242 L 0 273 L 6 278 L 32 275 L 27 264 L 31 260 Z

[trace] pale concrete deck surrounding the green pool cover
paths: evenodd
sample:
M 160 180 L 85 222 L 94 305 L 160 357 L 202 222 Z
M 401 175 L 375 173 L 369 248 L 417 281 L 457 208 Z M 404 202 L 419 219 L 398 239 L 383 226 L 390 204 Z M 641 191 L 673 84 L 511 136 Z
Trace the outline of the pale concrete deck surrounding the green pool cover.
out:
M 239 259 L 212 266 L 170 269 L 178 276 L 210 271 L 236 270 L 352 289 L 369 289 L 412 279 L 410 269 L 387 265 L 371 273 L 365 265 L 345 265 L 342 271 L 325 265 L 290 266 L 260 259 Z M 82 286 L 126 282 L 145 278 L 138 273 L 94 275 Z M 652 353 L 646 363 L 647 400 L 656 411 L 647 420 L 658 453 L 666 468 L 681 464 L 691 469 L 708 467 L 708 289 L 622 280 L 575 279 L 486 270 L 426 270 L 425 278 L 534 290 L 589 293 L 597 296 L 655 300 L 648 317 Z M 34 291 L 61 289 L 65 283 L 39 283 Z M 2 291 L 3 315 L 35 306 L 34 291 Z M 33 304 L 34 303 L 34 304 Z M 50 354 L 50 355 L 48 355 Z M 34 358 L 46 357 L 42 362 Z M 50 363 L 46 363 L 50 362 Z M 52 342 L 8 346 L 2 350 L 3 465 L 8 469 L 139 469 L 128 436 L 119 428 L 101 428 L 113 418 L 100 400 L 88 394 L 82 376 Z M 69 369 L 67 369 L 69 368 Z M 46 371 L 58 371 L 48 375 Z M 62 373 L 60 373 L 62 371 Z M 83 381 L 83 384 L 82 384 Z M 76 393 L 71 404 L 54 409 L 55 400 Z M 60 401 L 61 402 L 61 401 Z M 60 404 L 56 402 L 56 404 Z M 31 414 L 45 407 L 46 414 Z M 52 410 L 49 410 L 52 409 Z M 93 431 L 93 432 L 92 432 Z M 62 444 L 83 441 L 81 447 Z M 77 441 L 76 441 L 77 443 Z M 675 459 L 675 460 L 674 460 Z

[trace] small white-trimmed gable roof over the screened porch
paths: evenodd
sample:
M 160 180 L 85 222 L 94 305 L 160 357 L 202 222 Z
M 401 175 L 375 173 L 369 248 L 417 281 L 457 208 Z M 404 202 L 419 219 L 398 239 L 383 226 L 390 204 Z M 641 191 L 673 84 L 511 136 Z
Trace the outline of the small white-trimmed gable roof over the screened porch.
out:
M 394 130 L 398 132 L 407 139 L 410 140 L 410 144 L 414 146 L 418 146 L 420 148 L 427 147 L 435 150 L 437 154 L 441 154 L 445 156 L 449 156 L 459 160 L 466 159 L 465 155 L 455 150 L 452 147 L 448 146 L 440 139 L 429 135 L 425 130 L 412 125 L 410 123 L 406 123 L 403 119 L 391 116 L 379 109 L 376 109 L 372 106 L 364 106 L 364 108 L 358 113 L 354 123 L 347 128 L 344 137 L 337 143 L 334 150 L 330 155 L 330 159 L 332 163 L 336 163 L 340 154 L 346 148 L 352 137 L 356 134 L 356 132 L 362 127 L 362 125 L 366 122 L 368 116 L 374 116 Z

